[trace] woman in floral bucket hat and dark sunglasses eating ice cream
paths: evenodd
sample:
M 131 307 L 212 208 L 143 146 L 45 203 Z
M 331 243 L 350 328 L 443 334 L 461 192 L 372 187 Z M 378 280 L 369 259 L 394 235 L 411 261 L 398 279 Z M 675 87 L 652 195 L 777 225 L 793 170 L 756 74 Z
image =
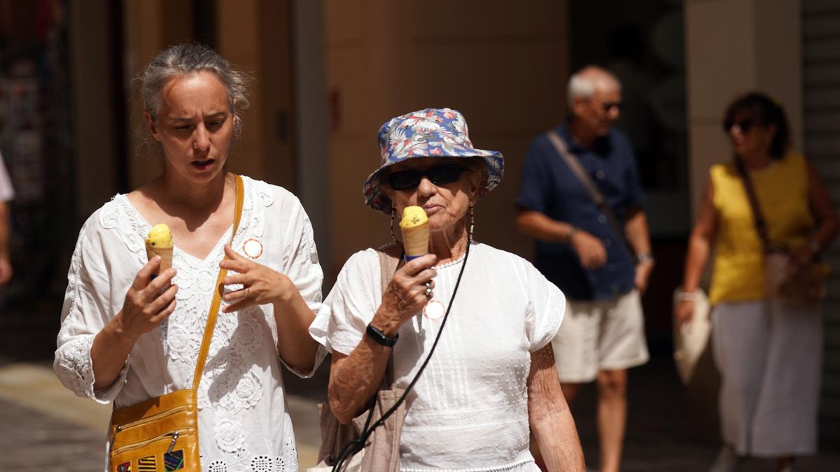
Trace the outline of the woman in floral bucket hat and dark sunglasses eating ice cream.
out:
M 336 417 L 348 423 L 365 410 L 391 350 L 393 385 L 406 388 L 451 302 L 431 362 L 407 396 L 401 469 L 539 470 L 530 429 L 549 470 L 583 470 L 550 344 L 563 293 L 528 261 L 472 239 L 473 207 L 501 181 L 501 154 L 473 148 L 464 117 L 448 108 L 393 118 L 379 142 L 382 165 L 365 182 L 365 201 L 391 223 L 405 207 L 423 207 L 429 254 L 399 266 L 384 293 L 374 249 L 341 270 L 309 328 L 333 354 Z M 402 244 L 384 250 L 399 257 Z

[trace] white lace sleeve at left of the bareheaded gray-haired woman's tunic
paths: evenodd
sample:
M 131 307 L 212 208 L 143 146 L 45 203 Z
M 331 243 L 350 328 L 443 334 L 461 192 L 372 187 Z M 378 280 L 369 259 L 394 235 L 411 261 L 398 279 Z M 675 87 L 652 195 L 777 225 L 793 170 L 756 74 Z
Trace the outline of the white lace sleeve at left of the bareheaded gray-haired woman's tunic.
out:
M 117 397 L 128 372 L 128 362 L 117 380 L 100 391 L 93 390 L 91 346 L 96 333 L 110 318 L 108 270 L 104 266 L 102 244 L 91 244 L 88 220 L 81 229 L 67 273 L 67 290 L 61 309 L 53 369 L 61 383 L 78 396 L 87 396 L 99 403 Z

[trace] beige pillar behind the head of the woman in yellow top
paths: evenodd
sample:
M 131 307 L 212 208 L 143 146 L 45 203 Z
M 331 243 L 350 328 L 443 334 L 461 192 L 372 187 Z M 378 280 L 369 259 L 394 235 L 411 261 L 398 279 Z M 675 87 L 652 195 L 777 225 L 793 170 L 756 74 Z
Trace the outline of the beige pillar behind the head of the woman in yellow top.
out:
M 722 114 L 738 94 L 769 93 L 785 107 L 801 149 L 800 0 L 687 0 L 689 175 L 696 214 L 710 165 L 732 150 Z

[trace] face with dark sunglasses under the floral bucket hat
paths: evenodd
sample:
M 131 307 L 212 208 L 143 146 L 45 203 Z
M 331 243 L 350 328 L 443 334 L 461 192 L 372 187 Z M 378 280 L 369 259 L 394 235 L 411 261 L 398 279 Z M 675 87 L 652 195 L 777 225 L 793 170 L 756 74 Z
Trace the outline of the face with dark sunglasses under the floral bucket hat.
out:
M 397 174 L 402 172 L 406 173 Z M 455 181 L 444 183 L 455 175 Z M 389 179 L 400 188 L 392 188 Z M 396 207 L 396 217 L 402 218 L 405 207 L 423 207 L 428 215 L 429 231 L 434 233 L 453 228 L 465 217 L 470 202 L 475 202 L 478 194 L 480 175 L 467 167 L 465 159 L 423 157 L 391 165 L 382 181 L 383 191 Z M 414 181 L 417 186 L 410 186 Z

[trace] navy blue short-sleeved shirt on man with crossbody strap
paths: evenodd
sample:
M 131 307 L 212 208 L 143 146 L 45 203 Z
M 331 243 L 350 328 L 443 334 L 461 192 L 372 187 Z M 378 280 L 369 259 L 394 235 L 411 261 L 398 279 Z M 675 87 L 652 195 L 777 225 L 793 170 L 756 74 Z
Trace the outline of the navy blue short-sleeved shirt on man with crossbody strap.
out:
M 644 199 L 636 157 L 627 138 L 611 129 L 605 138 L 596 141 L 593 149 L 586 149 L 573 142 L 568 124 L 555 130 L 601 189 L 623 227 L 627 210 L 640 207 Z M 606 265 L 597 270 L 585 270 L 569 244 L 536 242 L 534 265 L 567 298 L 606 300 L 633 289 L 636 269 L 622 235 L 616 233 L 606 215 L 592 202 L 547 134 L 533 139 L 528 146 L 516 204 L 570 223 L 603 242 Z

